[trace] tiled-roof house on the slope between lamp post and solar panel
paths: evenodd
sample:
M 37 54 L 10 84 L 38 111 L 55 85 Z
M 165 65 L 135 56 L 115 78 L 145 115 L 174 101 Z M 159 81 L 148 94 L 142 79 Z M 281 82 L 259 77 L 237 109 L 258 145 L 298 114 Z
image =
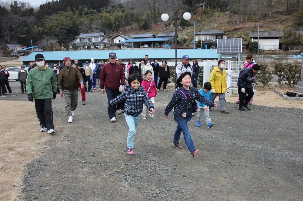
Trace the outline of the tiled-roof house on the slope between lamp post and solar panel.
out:
M 217 49 L 217 39 L 225 38 L 227 38 L 227 34 L 220 30 L 200 31 L 195 33 L 195 43 L 199 40 L 203 40 L 205 49 Z M 194 40 L 192 40 L 190 44 L 194 46 Z

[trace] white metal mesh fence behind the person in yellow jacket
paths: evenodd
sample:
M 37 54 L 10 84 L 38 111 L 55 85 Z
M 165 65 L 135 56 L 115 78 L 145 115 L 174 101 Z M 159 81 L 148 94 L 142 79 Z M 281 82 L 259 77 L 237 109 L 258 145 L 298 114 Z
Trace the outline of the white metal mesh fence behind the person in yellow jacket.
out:
M 225 61 L 227 87 L 231 87 L 232 95 L 238 95 L 238 76 L 245 62 L 246 61 Z M 209 81 L 210 73 L 217 65 L 218 61 L 203 61 L 203 83 Z

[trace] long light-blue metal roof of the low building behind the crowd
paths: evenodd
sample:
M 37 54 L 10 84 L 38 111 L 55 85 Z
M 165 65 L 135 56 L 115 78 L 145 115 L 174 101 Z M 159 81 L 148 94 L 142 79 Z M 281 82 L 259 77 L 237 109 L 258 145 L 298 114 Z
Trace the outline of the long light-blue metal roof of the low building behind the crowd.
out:
M 183 55 L 187 54 L 191 59 L 218 59 L 219 55 L 216 49 L 178 49 L 178 60 L 181 61 Z M 118 59 L 129 60 L 134 59 L 140 61 L 146 54 L 150 59 L 158 58 L 159 61 L 165 59 L 167 61 L 175 60 L 175 49 L 117 49 L 117 50 L 79 50 L 79 51 L 56 51 L 56 52 L 39 52 L 43 54 L 45 60 L 49 63 L 62 62 L 65 56 L 70 57 L 72 60 L 78 59 L 81 62 L 90 61 L 93 57 L 95 62 L 100 60 L 107 60 L 109 53 L 114 52 L 117 54 Z M 35 61 L 35 55 L 31 53 L 25 58 L 21 59 L 24 64 Z

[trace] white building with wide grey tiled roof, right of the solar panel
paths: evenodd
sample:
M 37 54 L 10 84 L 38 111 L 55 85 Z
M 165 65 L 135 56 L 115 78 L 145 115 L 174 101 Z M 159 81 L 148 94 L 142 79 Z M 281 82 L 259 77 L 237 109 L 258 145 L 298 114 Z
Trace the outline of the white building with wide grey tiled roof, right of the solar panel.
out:
M 279 40 L 284 36 L 283 31 L 259 31 L 259 49 L 262 50 L 277 50 L 281 49 Z M 249 37 L 252 42 L 258 42 L 258 31 L 251 31 Z

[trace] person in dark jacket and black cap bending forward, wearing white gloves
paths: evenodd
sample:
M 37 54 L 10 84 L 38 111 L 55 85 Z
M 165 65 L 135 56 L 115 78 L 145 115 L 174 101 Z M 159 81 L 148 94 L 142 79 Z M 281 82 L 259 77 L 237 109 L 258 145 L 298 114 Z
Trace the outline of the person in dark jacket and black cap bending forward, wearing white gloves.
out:
M 239 110 L 245 111 L 251 110 L 248 106 L 248 102 L 254 95 L 252 88 L 253 77 L 259 72 L 260 66 L 258 64 L 253 65 L 251 68 L 242 69 L 238 77 L 238 93 L 240 98 Z M 246 95 L 247 94 L 247 95 Z M 246 109 L 245 109 L 246 108 Z

